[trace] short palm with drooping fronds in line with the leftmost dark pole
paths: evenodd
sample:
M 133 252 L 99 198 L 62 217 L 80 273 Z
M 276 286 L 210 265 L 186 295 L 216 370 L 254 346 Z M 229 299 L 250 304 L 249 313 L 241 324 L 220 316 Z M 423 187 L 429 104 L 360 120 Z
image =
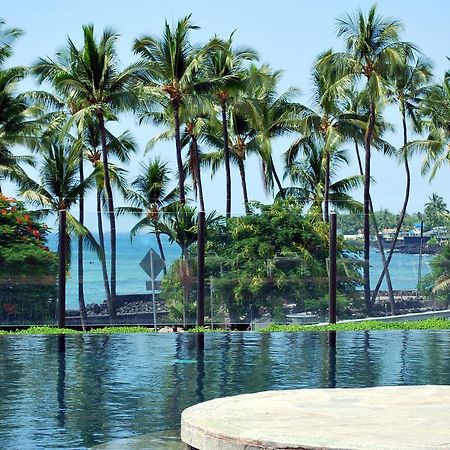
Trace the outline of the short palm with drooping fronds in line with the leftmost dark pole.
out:
M 43 137 L 42 141 L 38 165 L 39 181 L 34 181 L 25 175 L 20 180 L 19 186 L 20 193 L 26 200 L 35 206 L 41 207 L 38 211 L 39 215 L 57 214 L 57 220 L 60 220 L 58 284 L 60 308 L 62 308 L 62 313 L 64 313 L 66 270 L 70 264 L 70 234 L 73 232 L 78 236 L 84 236 L 85 244 L 99 252 L 98 244 L 93 236 L 69 212 L 78 201 L 80 195 L 84 194 L 92 186 L 94 180 L 90 176 L 83 182 L 80 182 L 78 176 L 80 152 L 73 145 L 73 141 L 60 142 L 48 137 Z M 67 227 L 66 220 L 68 222 Z M 84 328 L 86 320 L 84 304 L 80 304 L 80 317 Z M 64 319 L 63 316 L 62 319 Z

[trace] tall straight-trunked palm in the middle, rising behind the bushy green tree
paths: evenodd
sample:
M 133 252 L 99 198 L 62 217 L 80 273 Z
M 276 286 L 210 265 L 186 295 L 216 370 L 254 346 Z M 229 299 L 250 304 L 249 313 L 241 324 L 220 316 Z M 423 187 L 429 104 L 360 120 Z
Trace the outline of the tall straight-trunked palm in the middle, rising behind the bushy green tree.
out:
M 234 33 L 233 33 L 234 34 Z M 210 40 L 206 48 L 205 78 L 218 80 L 214 90 L 216 101 L 219 102 L 223 134 L 223 155 L 226 184 L 226 217 L 231 216 L 231 166 L 228 137 L 229 104 L 233 96 L 242 91 L 245 86 L 246 72 L 244 62 L 257 59 L 257 54 L 249 48 L 233 48 L 233 34 L 222 40 L 217 37 Z

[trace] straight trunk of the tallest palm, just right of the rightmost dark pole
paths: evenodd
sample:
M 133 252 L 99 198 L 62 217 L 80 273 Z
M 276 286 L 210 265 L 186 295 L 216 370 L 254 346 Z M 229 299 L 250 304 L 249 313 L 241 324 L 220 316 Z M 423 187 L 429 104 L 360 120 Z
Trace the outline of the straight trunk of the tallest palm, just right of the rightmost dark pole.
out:
M 364 136 L 364 301 L 367 313 L 372 313 L 372 303 L 370 300 L 370 150 L 372 144 L 372 136 L 375 130 L 375 102 L 370 101 L 369 123 Z

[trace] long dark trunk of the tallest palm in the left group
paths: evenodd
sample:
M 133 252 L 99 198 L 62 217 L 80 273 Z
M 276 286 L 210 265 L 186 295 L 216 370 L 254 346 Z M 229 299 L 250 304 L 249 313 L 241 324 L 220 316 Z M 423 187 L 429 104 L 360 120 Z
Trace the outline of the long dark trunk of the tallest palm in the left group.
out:
M 117 235 L 116 235 L 116 217 L 114 215 L 114 201 L 111 187 L 111 179 L 109 176 L 108 165 L 108 148 L 106 145 L 106 129 L 103 113 L 98 114 L 98 123 L 100 126 L 100 136 L 102 141 L 102 158 L 103 158 L 103 170 L 105 176 L 105 193 L 108 204 L 108 217 L 110 225 L 110 238 L 111 238 L 111 319 L 115 318 L 116 308 L 115 299 L 117 293 Z

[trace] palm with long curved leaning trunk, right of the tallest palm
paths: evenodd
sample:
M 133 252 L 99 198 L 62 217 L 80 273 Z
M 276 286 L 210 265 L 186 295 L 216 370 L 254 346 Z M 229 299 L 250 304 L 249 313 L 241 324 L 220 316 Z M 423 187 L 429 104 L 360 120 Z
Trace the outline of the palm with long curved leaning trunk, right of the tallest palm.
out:
M 409 202 L 409 194 L 411 191 L 411 171 L 409 167 L 409 154 L 417 146 L 417 142 L 409 142 L 408 139 L 408 125 L 407 120 L 409 119 L 414 131 L 420 132 L 423 125 L 420 118 L 417 115 L 420 102 L 425 93 L 425 85 L 430 81 L 432 77 L 432 66 L 430 61 L 425 58 L 417 58 L 413 63 L 405 63 L 403 66 L 399 66 L 397 73 L 393 80 L 392 86 L 392 96 L 398 103 L 400 114 L 402 117 L 402 131 L 403 131 L 403 146 L 401 149 L 400 157 L 403 160 L 403 165 L 405 167 L 406 176 L 406 186 L 405 186 L 405 197 L 403 200 L 402 209 L 400 211 L 400 217 L 395 230 L 394 238 L 392 241 L 391 248 L 389 249 L 388 257 L 386 259 L 386 266 L 380 274 L 377 285 L 372 294 L 372 299 L 376 298 L 378 291 L 383 282 L 386 267 L 392 259 L 392 255 L 395 251 L 395 246 L 397 244 L 397 239 L 400 234 L 400 230 L 403 226 L 403 221 L 406 215 L 406 209 Z M 395 313 L 395 311 L 392 311 Z

